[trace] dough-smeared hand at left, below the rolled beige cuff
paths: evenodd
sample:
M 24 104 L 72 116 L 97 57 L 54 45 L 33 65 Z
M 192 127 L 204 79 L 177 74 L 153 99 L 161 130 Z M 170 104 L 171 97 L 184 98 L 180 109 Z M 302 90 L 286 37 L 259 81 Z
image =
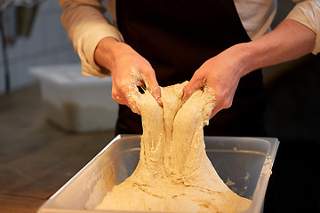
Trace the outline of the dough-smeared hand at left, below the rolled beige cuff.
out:
M 156 82 L 156 74 L 147 59 L 126 43 L 105 37 L 94 52 L 94 59 L 112 74 L 112 99 L 129 106 L 132 112 L 140 114 L 139 86 L 145 86 L 162 106 L 161 89 Z

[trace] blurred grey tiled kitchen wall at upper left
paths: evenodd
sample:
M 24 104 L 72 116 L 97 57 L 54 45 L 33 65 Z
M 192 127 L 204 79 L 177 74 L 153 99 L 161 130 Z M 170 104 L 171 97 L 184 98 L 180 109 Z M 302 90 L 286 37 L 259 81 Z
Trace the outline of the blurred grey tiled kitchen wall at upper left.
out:
M 19 37 L 13 45 L 8 45 L 12 91 L 36 81 L 28 75 L 29 67 L 80 63 L 60 23 L 61 13 L 58 0 L 44 0 L 39 4 L 30 36 Z M 4 92 L 4 60 L 0 51 L 0 94 Z

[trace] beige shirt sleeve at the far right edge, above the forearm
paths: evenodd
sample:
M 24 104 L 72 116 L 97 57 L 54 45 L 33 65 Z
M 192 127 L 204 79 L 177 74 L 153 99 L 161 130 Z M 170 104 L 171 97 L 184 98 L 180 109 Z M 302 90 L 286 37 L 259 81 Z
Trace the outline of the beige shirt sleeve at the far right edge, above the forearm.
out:
M 320 0 L 293 0 L 297 3 L 286 19 L 296 20 L 316 33 L 313 54 L 320 51 Z

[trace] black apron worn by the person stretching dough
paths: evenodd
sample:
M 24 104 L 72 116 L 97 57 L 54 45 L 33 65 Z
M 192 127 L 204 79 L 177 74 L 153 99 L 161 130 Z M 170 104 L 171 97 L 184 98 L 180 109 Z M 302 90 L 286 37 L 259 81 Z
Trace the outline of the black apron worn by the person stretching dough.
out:
M 204 61 L 236 43 L 250 42 L 233 0 L 117 0 L 117 25 L 155 69 L 160 86 L 190 80 Z M 239 82 L 233 104 L 204 128 L 204 135 L 265 136 L 261 70 Z M 141 134 L 141 118 L 120 105 L 116 134 Z

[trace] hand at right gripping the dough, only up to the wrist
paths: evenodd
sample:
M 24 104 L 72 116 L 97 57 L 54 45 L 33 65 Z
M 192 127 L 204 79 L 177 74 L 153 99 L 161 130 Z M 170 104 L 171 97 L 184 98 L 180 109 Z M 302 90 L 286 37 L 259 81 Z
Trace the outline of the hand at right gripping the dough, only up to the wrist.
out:
M 232 105 L 239 80 L 247 71 L 245 51 L 241 49 L 242 45 L 237 44 L 205 61 L 183 90 L 184 99 L 188 99 L 201 88 L 212 93 L 215 97 L 215 107 L 210 119 L 221 109 Z

